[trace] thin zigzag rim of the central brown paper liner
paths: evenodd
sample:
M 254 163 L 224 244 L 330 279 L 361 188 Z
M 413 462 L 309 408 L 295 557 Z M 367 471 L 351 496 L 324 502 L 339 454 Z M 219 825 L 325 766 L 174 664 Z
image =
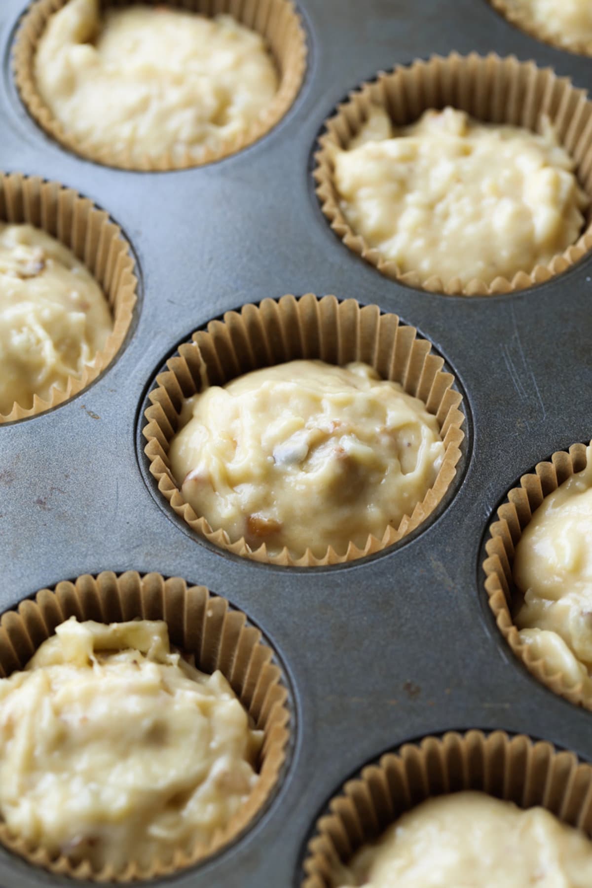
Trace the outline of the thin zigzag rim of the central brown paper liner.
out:
M 377 306 L 372 305 L 360 305 L 355 299 L 345 299 L 343 301 L 339 301 L 335 296 L 325 296 L 325 297 L 316 297 L 312 293 L 307 293 L 303 297 L 296 298 L 295 296 L 288 294 L 286 296 L 280 297 L 279 299 L 264 299 L 257 306 L 252 303 L 248 303 L 243 305 L 240 312 L 226 312 L 225 313 L 225 321 L 226 324 L 229 318 L 232 319 L 240 319 L 241 322 L 244 321 L 245 313 L 255 310 L 258 314 L 258 317 L 262 320 L 262 323 L 265 323 L 262 306 L 265 303 L 272 303 L 277 306 L 280 306 L 284 300 L 291 300 L 292 303 L 296 303 L 296 306 L 303 306 L 302 311 L 300 308 L 296 308 L 297 311 L 300 312 L 300 316 L 304 314 L 304 311 L 307 305 L 316 305 L 319 308 L 321 305 L 325 303 L 325 300 L 332 301 L 335 305 L 335 309 L 339 305 L 352 305 L 355 306 L 355 311 L 357 313 L 357 317 L 359 318 L 360 313 L 366 310 L 376 309 L 380 312 Z M 146 418 L 146 424 L 142 429 L 142 434 L 147 440 L 146 446 L 144 448 L 144 452 L 149 461 L 149 470 L 154 480 L 157 482 L 158 490 L 160 494 L 170 503 L 173 511 L 176 512 L 179 518 L 184 519 L 185 523 L 196 531 L 201 536 L 204 536 L 210 543 L 214 543 L 219 548 L 225 549 L 226 551 L 230 551 L 235 555 L 239 555 L 242 558 L 252 559 L 259 563 L 264 564 L 274 564 L 280 567 L 323 567 L 328 565 L 336 565 L 350 562 L 354 559 L 365 558 L 368 555 L 375 554 L 375 552 L 383 551 L 387 547 L 393 545 L 394 543 L 398 543 L 403 537 L 412 533 L 417 527 L 420 527 L 422 523 L 428 519 L 433 511 L 435 511 L 446 496 L 447 491 L 450 489 L 454 477 L 456 475 L 456 465 L 459 463 L 462 457 L 461 445 L 462 441 L 465 438 L 465 432 L 462 431 L 462 425 L 465 423 L 466 416 L 462 411 L 462 395 L 460 392 L 456 392 L 452 385 L 454 385 L 455 377 L 452 373 L 448 373 L 447 371 L 443 371 L 442 367 L 444 365 L 444 360 L 440 359 L 439 356 L 434 355 L 431 352 L 431 343 L 429 340 L 423 339 L 417 335 L 417 331 L 413 327 L 409 327 L 407 324 L 403 324 L 399 322 L 399 317 L 396 314 L 384 312 L 379 315 L 380 317 L 389 316 L 393 319 L 396 319 L 397 329 L 406 328 L 414 331 L 414 339 L 413 341 L 418 341 L 429 345 L 429 351 L 424 356 L 424 365 L 427 363 L 428 358 L 437 357 L 438 360 L 441 360 L 440 368 L 437 371 L 436 377 L 444 374 L 445 377 L 449 377 L 449 384 L 446 387 L 446 391 L 442 394 L 442 399 L 438 403 L 443 403 L 446 398 L 451 397 L 451 392 L 453 394 L 453 401 L 449 406 L 448 413 L 446 414 L 446 419 L 444 420 L 444 424 L 447 425 L 446 434 L 443 436 L 442 440 L 446 437 L 450 437 L 448 444 L 446 446 L 445 458 L 438 472 L 438 477 L 431 488 L 428 489 L 425 496 L 422 499 L 422 502 L 417 503 L 414 506 L 414 511 L 411 515 L 405 515 L 399 522 L 399 527 L 395 528 L 389 525 L 385 528 L 384 535 L 382 539 L 378 539 L 374 535 L 370 534 L 367 537 L 367 543 L 363 549 L 359 549 L 355 543 L 350 542 L 347 550 L 343 555 L 338 554 L 335 550 L 329 546 L 327 553 L 322 557 L 316 557 L 312 554 L 312 551 L 307 548 L 301 556 L 293 556 L 288 548 L 284 548 L 283 551 L 277 554 L 269 554 L 266 548 L 265 543 L 257 550 L 252 550 L 249 547 L 249 544 L 246 542 L 244 537 L 237 541 L 231 541 L 230 537 L 226 534 L 225 530 L 216 530 L 212 531 L 212 528 L 209 526 L 208 521 L 196 515 L 195 511 L 193 511 L 193 507 L 185 502 L 184 497 L 182 496 L 177 484 L 172 479 L 172 474 L 169 471 L 169 468 L 166 464 L 164 464 L 162 460 L 162 456 L 160 453 L 157 453 L 156 450 L 160 450 L 160 446 L 158 445 L 159 438 L 166 438 L 170 440 L 172 435 L 168 435 L 167 432 L 162 431 L 162 428 L 158 426 L 158 420 L 156 418 L 157 410 L 154 409 L 154 401 L 151 407 L 146 408 L 144 412 L 144 416 Z M 221 321 L 210 321 L 208 325 L 208 329 L 206 330 L 209 333 L 209 329 L 211 328 L 212 323 L 220 323 Z M 192 338 L 186 340 L 183 345 L 192 345 L 194 344 L 194 337 L 199 333 L 203 332 L 203 330 L 196 330 Z M 376 332 L 376 339 L 378 338 L 378 331 Z M 393 337 L 394 339 L 394 337 Z M 179 346 L 181 348 L 182 346 Z M 320 348 L 319 348 L 320 353 Z M 316 353 L 315 353 L 316 354 Z M 315 354 L 308 354 L 308 358 L 314 358 Z M 292 359 L 288 359 L 292 360 Z M 167 365 L 169 366 L 169 364 Z M 266 365 L 263 365 L 266 366 Z M 418 375 L 421 376 L 421 371 L 418 371 Z M 228 377 L 231 378 L 231 377 Z M 403 387 L 405 388 L 404 380 L 397 380 L 401 382 Z M 153 392 L 162 391 L 162 384 L 158 382 L 158 377 L 156 379 L 156 385 L 153 385 L 150 389 L 148 397 Z M 407 389 L 406 389 L 407 391 Z M 438 408 L 430 409 L 430 413 L 432 415 L 436 415 L 438 412 Z M 449 422 L 446 422 L 450 417 Z M 440 424 L 440 428 L 442 428 L 442 423 Z M 174 433 L 174 432 L 173 432 Z M 153 452 L 153 444 L 155 443 L 155 448 Z

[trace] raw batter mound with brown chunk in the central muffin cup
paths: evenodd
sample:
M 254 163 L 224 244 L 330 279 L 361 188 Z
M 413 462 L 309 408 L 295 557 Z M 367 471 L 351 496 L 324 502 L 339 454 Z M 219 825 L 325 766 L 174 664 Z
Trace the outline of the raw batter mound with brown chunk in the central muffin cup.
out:
M 343 554 L 398 527 L 432 487 L 444 444 L 421 400 L 366 364 L 290 361 L 185 403 L 170 445 L 183 496 L 256 550 Z

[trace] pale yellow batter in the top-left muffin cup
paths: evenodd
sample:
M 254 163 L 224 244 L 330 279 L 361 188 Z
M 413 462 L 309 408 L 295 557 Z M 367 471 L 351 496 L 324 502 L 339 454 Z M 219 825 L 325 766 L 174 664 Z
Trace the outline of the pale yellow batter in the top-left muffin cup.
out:
M 138 4 L 101 17 L 99 0 L 51 16 L 35 72 L 64 131 L 135 163 L 199 160 L 255 123 L 278 89 L 263 38 L 230 16 Z

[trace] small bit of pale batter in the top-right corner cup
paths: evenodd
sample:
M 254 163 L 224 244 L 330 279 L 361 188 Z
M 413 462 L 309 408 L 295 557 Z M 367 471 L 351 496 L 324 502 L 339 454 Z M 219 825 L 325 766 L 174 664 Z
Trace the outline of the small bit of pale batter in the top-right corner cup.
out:
M 565 46 L 592 49 L 590 0 L 505 0 L 509 10 L 524 17 L 541 36 Z

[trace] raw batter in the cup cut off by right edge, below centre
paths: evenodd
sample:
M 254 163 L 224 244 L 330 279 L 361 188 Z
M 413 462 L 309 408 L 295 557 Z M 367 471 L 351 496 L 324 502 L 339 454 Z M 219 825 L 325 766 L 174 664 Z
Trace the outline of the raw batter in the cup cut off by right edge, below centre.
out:
M 573 685 L 592 683 L 592 449 L 588 464 L 546 496 L 521 536 L 514 581 L 524 592 L 520 638 Z

